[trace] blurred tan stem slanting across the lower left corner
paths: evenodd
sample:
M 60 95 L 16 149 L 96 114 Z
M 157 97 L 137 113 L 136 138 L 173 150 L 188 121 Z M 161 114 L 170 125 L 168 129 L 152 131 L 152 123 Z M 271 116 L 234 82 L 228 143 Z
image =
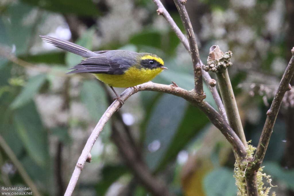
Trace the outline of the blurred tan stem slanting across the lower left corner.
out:
M 37 189 L 36 185 L 34 182 L 31 180 L 29 177 L 28 173 L 24 169 L 24 167 L 21 165 L 19 160 L 17 159 L 16 155 L 14 152 L 11 150 L 9 145 L 6 143 L 6 141 L 2 138 L 0 135 L 0 146 L 3 149 L 3 151 L 6 153 L 6 155 L 9 157 L 11 162 L 14 164 L 16 169 L 18 170 L 19 174 L 21 175 L 22 179 L 24 182 L 31 188 L 31 191 L 33 192 L 34 195 L 41 196 L 41 193 Z

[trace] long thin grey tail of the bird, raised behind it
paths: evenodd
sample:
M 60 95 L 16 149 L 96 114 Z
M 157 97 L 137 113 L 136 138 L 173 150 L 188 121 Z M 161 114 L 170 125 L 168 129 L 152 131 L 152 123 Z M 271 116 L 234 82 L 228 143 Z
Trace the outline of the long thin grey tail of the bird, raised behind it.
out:
M 59 38 L 54 38 L 54 37 L 50 37 L 50 36 L 41 36 L 43 41 L 51 43 L 52 45 L 61 48 L 63 50 L 78 54 L 80 56 L 83 57 L 92 57 L 92 56 L 97 56 L 96 53 L 89 51 L 87 48 L 84 48 L 82 46 L 79 46 L 75 43 L 71 43 L 69 41 L 65 41 L 63 39 L 59 39 Z

